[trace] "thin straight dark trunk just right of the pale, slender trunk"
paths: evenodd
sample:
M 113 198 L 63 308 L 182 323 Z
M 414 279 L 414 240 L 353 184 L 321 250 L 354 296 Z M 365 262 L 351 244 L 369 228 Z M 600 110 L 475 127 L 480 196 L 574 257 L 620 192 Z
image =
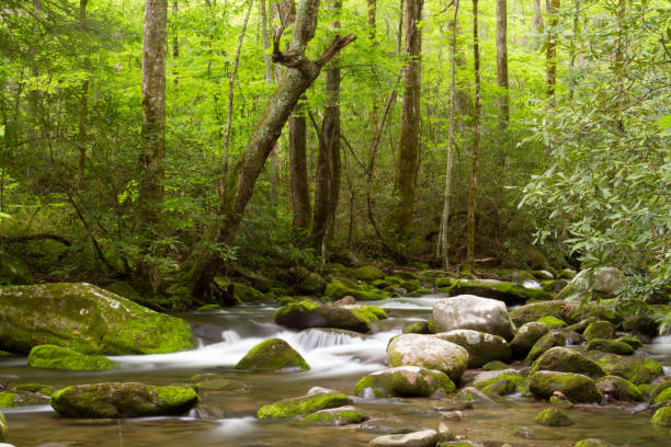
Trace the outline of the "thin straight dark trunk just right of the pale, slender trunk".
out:
M 470 181 L 468 184 L 468 215 L 466 229 L 466 266 L 475 273 L 475 209 L 478 193 L 478 152 L 480 150 L 480 44 L 478 37 L 478 0 L 473 0 L 473 57 L 475 73 L 475 113 L 473 116 L 473 153 L 470 157 Z

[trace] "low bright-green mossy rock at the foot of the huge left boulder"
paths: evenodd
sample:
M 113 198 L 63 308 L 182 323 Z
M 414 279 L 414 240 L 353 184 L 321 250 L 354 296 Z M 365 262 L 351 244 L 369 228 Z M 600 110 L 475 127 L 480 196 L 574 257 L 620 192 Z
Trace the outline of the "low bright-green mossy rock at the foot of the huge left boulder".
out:
M 29 354 L 29 365 L 33 368 L 69 369 L 72 371 L 102 371 L 118 365 L 100 355 L 86 355 L 56 345 L 38 345 Z

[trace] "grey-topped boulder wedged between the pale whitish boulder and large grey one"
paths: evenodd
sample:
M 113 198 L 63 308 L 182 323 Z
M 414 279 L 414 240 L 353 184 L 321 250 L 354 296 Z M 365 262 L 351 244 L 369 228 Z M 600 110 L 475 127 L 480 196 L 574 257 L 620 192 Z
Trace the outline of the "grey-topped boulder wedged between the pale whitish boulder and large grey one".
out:
M 468 352 L 468 368 L 479 368 L 488 362 L 510 359 L 510 346 L 503 337 L 471 329 L 456 329 L 434 336 L 458 344 Z

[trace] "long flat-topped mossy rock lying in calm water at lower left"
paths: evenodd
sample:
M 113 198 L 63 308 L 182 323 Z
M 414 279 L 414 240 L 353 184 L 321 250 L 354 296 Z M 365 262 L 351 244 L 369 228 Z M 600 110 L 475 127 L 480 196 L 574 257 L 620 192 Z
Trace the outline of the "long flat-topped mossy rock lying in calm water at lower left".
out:
M 191 387 L 109 382 L 64 388 L 52 396 L 50 403 L 68 417 L 145 417 L 181 415 L 197 401 Z

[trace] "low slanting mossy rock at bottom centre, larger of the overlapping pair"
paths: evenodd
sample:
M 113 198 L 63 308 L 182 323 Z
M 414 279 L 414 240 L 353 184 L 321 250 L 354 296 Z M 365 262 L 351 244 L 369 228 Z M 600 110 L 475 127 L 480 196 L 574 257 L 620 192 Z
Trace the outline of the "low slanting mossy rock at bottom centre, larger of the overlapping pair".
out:
M 349 405 L 350 403 L 352 403 L 350 398 L 341 392 L 316 392 L 263 405 L 257 412 L 257 417 L 260 420 L 298 417 L 320 410 Z

